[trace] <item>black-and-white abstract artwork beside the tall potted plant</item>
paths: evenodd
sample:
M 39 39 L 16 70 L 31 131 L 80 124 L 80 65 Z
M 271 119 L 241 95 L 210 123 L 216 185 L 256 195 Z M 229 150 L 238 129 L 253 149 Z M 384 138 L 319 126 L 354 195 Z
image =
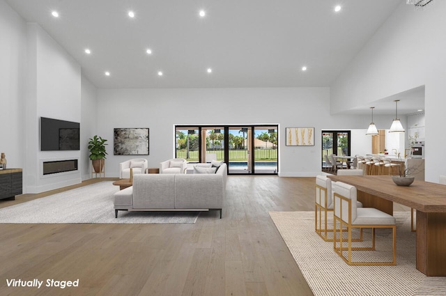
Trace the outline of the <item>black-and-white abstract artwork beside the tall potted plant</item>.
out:
M 114 155 L 148 155 L 148 128 L 115 128 Z

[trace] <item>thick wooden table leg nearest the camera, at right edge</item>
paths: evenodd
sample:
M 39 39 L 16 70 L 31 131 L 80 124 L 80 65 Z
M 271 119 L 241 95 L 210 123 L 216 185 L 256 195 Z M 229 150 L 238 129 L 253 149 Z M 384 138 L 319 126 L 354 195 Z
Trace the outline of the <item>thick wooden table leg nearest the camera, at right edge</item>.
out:
M 446 213 L 417 210 L 417 270 L 446 276 Z

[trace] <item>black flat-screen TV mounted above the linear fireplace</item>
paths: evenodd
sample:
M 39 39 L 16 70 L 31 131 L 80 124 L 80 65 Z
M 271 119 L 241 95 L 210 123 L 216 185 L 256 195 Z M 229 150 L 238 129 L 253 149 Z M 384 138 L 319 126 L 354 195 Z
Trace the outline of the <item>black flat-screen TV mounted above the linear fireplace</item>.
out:
M 79 123 L 40 117 L 40 150 L 80 150 Z

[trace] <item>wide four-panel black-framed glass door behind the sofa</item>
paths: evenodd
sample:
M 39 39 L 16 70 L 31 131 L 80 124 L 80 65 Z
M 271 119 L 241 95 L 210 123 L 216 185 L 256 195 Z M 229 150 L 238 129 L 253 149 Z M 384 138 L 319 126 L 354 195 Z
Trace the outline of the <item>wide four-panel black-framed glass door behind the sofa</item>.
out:
M 223 160 L 229 174 L 277 174 L 277 125 L 175 127 L 176 157 L 190 165 Z

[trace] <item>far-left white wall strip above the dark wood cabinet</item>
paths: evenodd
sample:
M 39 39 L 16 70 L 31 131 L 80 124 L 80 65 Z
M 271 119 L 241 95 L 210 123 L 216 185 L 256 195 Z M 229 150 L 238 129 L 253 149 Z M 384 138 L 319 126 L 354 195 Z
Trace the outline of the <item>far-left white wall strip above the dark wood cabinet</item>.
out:
M 22 17 L 0 1 L 0 152 L 9 168 L 23 168 L 26 25 Z

